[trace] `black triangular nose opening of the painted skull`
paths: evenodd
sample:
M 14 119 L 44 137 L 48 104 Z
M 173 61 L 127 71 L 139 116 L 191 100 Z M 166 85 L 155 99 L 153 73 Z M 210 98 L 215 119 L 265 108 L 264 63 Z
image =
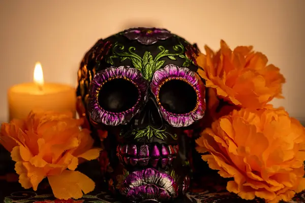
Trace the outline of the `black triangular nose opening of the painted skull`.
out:
M 144 109 L 135 117 L 134 126 L 137 128 L 145 128 L 147 126 L 156 129 L 162 128 L 163 119 L 153 98 L 148 99 Z

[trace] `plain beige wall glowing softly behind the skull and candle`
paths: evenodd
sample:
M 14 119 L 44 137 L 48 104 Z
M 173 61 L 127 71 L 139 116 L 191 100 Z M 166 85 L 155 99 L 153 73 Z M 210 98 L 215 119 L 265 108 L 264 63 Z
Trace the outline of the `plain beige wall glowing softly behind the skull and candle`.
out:
M 304 0 L 0 0 L 0 121 L 7 89 L 33 79 L 42 63 L 45 81 L 76 84 L 78 64 L 99 38 L 129 26 L 165 27 L 201 50 L 254 45 L 281 68 L 286 99 L 275 100 L 305 121 Z

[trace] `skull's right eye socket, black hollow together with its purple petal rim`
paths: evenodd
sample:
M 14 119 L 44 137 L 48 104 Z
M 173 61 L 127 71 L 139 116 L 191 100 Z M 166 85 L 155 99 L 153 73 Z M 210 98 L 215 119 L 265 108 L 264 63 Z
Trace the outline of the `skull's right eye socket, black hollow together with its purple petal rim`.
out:
M 187 67 L 168 64 L 150 83 L 163 118 L 174 127 L 186 127 L 203 117 L 205 89 L 200 77 Z

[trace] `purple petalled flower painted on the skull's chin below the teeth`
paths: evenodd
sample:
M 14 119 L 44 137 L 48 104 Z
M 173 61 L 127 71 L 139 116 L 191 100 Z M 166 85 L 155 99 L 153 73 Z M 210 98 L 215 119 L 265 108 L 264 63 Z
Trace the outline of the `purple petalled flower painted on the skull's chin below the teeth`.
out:
M 168 200 L 177 196 L 177 183 L 167 174 L 147 168 L 129 174 L 123 181 L 120 193 L 136 201 L 144 199 Z

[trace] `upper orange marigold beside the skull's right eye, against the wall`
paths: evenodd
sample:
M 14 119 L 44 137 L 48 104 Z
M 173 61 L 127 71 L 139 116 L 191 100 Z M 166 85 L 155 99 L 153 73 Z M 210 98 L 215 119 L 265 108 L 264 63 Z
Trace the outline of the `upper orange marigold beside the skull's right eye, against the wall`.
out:
M 205 46 L 206 55 L 200 53 L 198 74 L 206 80 L 206 86 L 215 88 L 217 94 L 231 103 L 245 108 L 261 108 L 268 101 L 282 96 L 285 78 L 280 70 L 252 47 L 239 46 L 233 51 L 221 41 L 221 49 L 215 53 Z

